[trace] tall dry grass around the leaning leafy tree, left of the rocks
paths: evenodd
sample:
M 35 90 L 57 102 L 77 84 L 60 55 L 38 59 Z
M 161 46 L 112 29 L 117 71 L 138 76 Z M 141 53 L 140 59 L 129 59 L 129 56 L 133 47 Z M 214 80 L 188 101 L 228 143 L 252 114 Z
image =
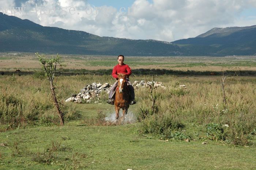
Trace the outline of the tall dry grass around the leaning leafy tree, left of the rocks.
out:
M 57 86 L 57 95 L 64 102 L 66 91 Z M 3 76 L 0 79 L 0 123 L 11 128 L 25 124 L 57 123 L 49 83 L 34 76 Z M 70 87 L 69 87 L 70 88 Z M 63 88 L 65 89 L 65 88 Z M 79 112 L 71 105 L 63 105 L 66 120 L 79 117 Z

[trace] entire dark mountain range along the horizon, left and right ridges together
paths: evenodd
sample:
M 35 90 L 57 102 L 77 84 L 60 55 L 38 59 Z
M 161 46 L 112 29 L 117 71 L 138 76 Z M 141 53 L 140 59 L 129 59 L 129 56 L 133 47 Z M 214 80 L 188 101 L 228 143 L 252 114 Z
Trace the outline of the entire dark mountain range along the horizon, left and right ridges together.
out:
M 0 52 L 125 56 L 256 55 L 256 26 L 213 28 L 174 42 L 99 37 L 84 31 L 45 27 L 0 12 Z

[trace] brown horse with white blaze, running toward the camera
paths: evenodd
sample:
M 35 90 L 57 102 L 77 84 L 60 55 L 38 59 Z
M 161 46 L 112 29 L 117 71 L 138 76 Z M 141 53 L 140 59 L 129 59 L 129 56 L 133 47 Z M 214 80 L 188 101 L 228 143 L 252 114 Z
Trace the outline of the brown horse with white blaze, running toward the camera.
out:
M 119 118 L 119 110 L 123 110 L 123 116 L 127 114 L 129 103 L 131 101 L 127 82 L 126 82 L 126 75 L 122 73 L 118 73 L 118 87 L 116 89 L 116 98 L 114 101 L 115 110 L 116 110 L 116 119 Z

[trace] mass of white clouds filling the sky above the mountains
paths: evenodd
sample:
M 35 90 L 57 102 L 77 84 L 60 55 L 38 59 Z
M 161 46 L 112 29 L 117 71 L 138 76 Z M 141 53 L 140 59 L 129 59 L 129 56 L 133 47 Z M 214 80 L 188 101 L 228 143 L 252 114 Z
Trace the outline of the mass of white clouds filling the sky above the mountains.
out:
M 247 8 L 256 8 L 256 0 L 153 0 L 153 3 L 135 0 L 129 14 L 127 7 L 121 10 L 107 5 L 95 7 L 84 0 L 23 1 L 26 12 L 15 14 L 22 19 L 43 26 L 120 38 L 174 41 L 195 37 L 213 27 L 256 23 L 256 16 L 240 16 Z M 14 0 L 0 0 L 0 4 L 12 7 Z M 50 14 L 43 14 L 49 11 Z

